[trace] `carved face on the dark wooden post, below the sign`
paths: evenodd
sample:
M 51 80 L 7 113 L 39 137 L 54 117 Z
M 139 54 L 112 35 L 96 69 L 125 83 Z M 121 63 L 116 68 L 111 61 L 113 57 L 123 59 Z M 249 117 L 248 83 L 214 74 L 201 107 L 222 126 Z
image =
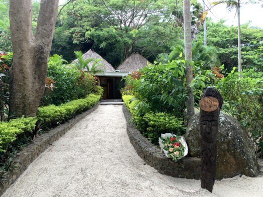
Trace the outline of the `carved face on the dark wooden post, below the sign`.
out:
M 217 110 L 218 111 L 218 110 Z M 218 132 L 218 116 L 219 112 L 213 115 L 209 112 L 203 112 L 200 117 L 200 134 L 205 142 L 213 142 L 216 140 Z

